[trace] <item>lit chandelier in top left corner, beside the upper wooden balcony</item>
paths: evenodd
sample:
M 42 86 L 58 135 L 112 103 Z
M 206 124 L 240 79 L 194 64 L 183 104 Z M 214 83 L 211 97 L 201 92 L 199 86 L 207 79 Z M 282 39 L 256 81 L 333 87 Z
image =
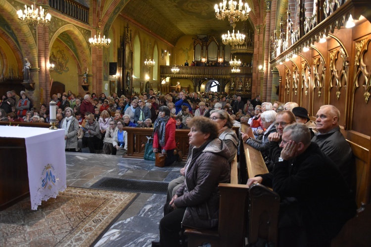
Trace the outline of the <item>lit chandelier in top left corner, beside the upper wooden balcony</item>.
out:
M 40 10 L 40 11 L 39 11 Z M 25 24 L 30 25 L 45 25 L 48 26 L 50 24 L 51 15 L 46 13 L 45 9 L 40 6 L 40 8 L 36 7 L 36 2 L 31 7 L 27 7 L 24 5 L 24 10 L 22 11 L 19 9 L 17 11 L 18 19 Z

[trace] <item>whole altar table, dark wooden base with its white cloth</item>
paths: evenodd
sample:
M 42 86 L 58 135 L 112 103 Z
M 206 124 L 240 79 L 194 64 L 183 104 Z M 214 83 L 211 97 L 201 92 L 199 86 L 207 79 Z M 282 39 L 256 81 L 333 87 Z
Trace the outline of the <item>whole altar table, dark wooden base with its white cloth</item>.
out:
M 30 192 L 31 209 L 66 189 L 64 129 L 0 126 L 0 208 Z M 27 184 L 28 183 L 28 184 Z

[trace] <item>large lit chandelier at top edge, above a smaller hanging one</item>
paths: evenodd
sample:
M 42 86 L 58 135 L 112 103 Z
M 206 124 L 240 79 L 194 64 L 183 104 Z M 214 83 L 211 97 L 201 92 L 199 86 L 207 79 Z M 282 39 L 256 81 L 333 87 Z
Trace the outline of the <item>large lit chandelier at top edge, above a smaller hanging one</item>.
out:
M 242 0 L 239 0 L 238 4 L 237 1 L 230 0 L 228 2 L 227 7 L 227 0 L 223 0 L 223 3 L 215 4 L 215 16 L 218 20 L 224 20 L 224 18 L 228 18 L 232 27 L 235 27 L 237 21 L 245 21 L 249 18 L 249 12 L 251 8 L 249 4 L 245 2 L 242 3 Z

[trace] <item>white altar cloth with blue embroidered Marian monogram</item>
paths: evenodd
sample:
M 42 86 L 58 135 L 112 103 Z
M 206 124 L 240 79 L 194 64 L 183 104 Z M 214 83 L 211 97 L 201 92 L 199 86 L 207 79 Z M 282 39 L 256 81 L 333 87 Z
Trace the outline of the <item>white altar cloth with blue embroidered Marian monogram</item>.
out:
M 0 137 L 25 139 L 31 209 L 66 189 L 63 129 L 0 126 Z

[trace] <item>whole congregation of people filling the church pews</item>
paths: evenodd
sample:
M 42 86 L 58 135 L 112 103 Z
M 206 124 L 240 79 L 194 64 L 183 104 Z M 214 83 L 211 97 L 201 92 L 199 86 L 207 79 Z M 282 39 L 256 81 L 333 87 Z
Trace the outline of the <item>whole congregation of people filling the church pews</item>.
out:
M 8 91 L 2 97 L 0 121 L 50 121 L 45 104 L 39 109 L 35 108 L 24 91 L 20 94 L 18 96 L 15 91 Z M 215 185 L 195 182 L 201 179 L 197 176 L 203 176 L 203 173 L 193 170 L 203 165 L 209 169 L 212 165 L 204 164 L 205 161 L 199 160 L 199 157 L 202 157 L 201 153 L 211 152 L 211 158 L 208 159 L 222 159 L 220 161 L 224 165 L 221 174 L 213 175 L 216 185 L 229 182 L 230 171 L 225 164 L 231 164 L 238 152 L 240 139 L 261 152 L 270 171 L 249 178 L 247 184 L 258 182 L 272 187 L 283 199 L 278 226 L 280 246 L 324 244 L 336 236 L 342 225 L 355 215 L 356 206 L 349 189 L 352 150 L 340 132 L 340 112 L 332 105 L 322 106 L 316 114 L 316 120 L 312 121 L 307 109 L 295 102 L 261 102 L 257 95 L 252 100 L 246 99 L 245 103 L 240 96 L 224 92 L 173 91 L 163 94 L 150 89 L 148 94 L 144 92 L 118 97 L 116 93 L 109 96 L 87 93 L 81 97 L 68 91 L 52 95 L 51 100 L 58 106 L 57 125 L 65 130 L 66 151 L 75 152 L 87 147 L 90 153 L 123 156 L 128 145 L 132 145 L 127 141 L 124 127 L 154 127 L 156 144 L 153 145 L 153 151 L 167 155 L 169 161 L 171 158 L 171 162 L 166 163 L 171 165 L 182 160 L 174 141 L 175 129 L 190 129 L 188 159 L 180 177 L 169 183 L 165 216 L 160 222 L 160 243 L 152 243 L 152 246 L 174 246 L 174 243 L 179 243 L 178 233 L 181 229 L 174 225 L 182 220 L 183 215 L 190 220 L 190 226 L 205 223 L 200 219 L 195 220 L 192 211 L 185 214 L 185 207 L 194 206 L 195 199 L 189 199 L 188 202 L 184 193 L 192 191 L 194 198 L 201 200 L 203 196 L 197 194 L 201 187 L 205 189 L 205 186 L 211 186 L 208 193 L 212 192 L 213 195 L 218 193 L 218 189 Z M 243 122 L 249 124 L 255 138 L 241 131 L 240 138 L 237 137 L 232 127 L 240 127 Z M 169 130 L 170 125 L 174 129 Z M 209 126 L 207 130 L 203 129 L 205 126 Z M 197 132 L 200 131 L 204 138 L 198 141 L 200 135 Z M 220 141 L 215 140 L 217 137 Z M 202 151 L 204 149 L 208 151 Z M 323 166 L 319 167 L 318 164 Z M 311 179 L 319 172 L 315 169 L 321 170 L 323 180 L 331 178 L 331 183 L 322 183 L 321 188 L 313 186 Z M 189 180 L 187 176 L 190 176 Z M 191 182 L 194 188 L 187 188 Z M 329 197 L 328 191 L 336 191 L 337 194 Z M 207 222 L 207 227 L 217 224 L 217 201 L 209 202 L 216 210 L 216 221 Z M 323 207 L 323 203 L 327 206 Z M 308 208 L 306 205 L 312 206 Z M 329 212 L 331 214 L 328 215 Z M 192 225 L 195 222 L 196 225 Z M 318 224 L 324 225 L 321 232 L 317 230 Z M 296 238 L 291 236 L 292 232 L 296 233 Z

